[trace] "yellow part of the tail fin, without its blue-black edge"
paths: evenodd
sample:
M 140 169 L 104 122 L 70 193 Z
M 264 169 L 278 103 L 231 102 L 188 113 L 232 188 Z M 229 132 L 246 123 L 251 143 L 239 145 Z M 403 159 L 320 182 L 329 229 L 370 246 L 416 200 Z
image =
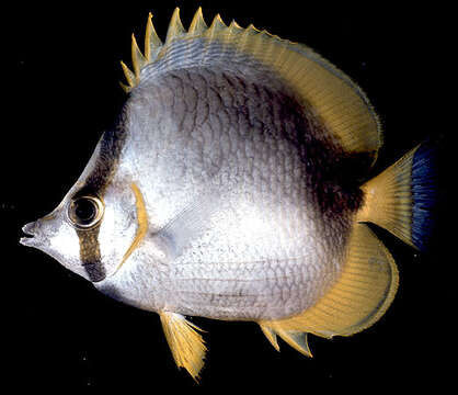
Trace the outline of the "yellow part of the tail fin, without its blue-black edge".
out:
M 419 147 L 362 187 L 365 200 L 356 218 L 386 228 L 412 247 L 412 166 Z

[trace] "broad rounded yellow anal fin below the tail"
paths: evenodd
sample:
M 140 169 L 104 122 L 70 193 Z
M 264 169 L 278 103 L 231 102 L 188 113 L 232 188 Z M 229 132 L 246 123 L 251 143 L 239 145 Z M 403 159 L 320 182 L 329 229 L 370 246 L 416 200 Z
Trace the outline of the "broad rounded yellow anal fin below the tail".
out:
M 355 224 L 341 278 L 317 304 L 297 316 L 259 324 L 279 336 L 301 331 L 327 338 L 350 336 L 375 324 L 397 289 L 398 269 L 391 255 L 365 224 Z M 298 342 L 297 337 L 290 338 L 285 340 Z

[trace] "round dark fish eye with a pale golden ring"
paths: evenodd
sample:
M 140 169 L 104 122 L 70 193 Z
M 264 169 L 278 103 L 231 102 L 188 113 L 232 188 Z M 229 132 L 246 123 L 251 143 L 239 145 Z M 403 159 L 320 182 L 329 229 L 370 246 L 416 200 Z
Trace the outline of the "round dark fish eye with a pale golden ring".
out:
M 72 200 L 68 206 L 68 218 L 78 228 L 90 228 L 98 224 L 103 215 L 103 203 L 94 196 L 81 196 Z

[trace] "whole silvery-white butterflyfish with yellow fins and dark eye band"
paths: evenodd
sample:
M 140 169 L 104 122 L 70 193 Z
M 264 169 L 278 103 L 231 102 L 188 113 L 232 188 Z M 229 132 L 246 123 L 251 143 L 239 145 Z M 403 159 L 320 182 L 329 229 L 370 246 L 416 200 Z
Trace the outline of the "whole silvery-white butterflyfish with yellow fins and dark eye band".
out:
M 312 357 L 308 336 L 373 326 L 399 285 L 375 227 L 423 251 L 434 147 L 373 176 L 379 116 L 310 47 L 180 9 L 162 42 L 147 19 L 121 63 L 126 101 L 79 179 L 26 224 L 36 248 L 110 297 L 157 313 L 172 358 L 198 381 L 207 345 L 190 317 L 253 321 Z

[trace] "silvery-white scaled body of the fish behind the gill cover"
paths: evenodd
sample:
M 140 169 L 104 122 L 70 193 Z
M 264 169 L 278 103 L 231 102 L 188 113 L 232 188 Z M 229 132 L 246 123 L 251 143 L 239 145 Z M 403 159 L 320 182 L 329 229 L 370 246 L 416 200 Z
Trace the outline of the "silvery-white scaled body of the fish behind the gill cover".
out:
M 150 311 L 288 316 L 339 278 L 352 213 L 320 210 L 308 173 L 317 158 L 305 157 L 291 120 L 275 124 L 282 98 L 271 98 L 261 114 L 247 100 L 241 109 L 254 88 L 237 91 L 237 78 L 216 71 L 158 74 L 130 98 L 128 135 L 108 191 L 137 184 L 148 235 L 96 286 Z M 259 75 L 251 78 L 260 83 Z M 253 103 L 267 93 L 257 94 Z M 104 247 L 113 248 L 101 239 L 102 253 Z

